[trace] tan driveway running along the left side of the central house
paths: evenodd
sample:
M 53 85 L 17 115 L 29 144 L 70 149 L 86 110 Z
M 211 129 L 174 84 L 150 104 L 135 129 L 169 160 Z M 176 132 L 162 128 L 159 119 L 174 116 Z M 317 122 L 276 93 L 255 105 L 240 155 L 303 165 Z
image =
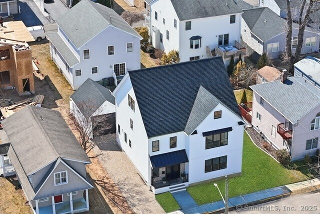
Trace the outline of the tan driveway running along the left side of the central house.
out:
M 100 150 L 98 157 L 108 175 L 118 185 L 123 196 L 127 199 L 135 213 L 165 213 L 155 200 L 154 194 L 142 181 L 136 168 L 121 151 L 115 140 L 115 134 L 94 138 L 95 153 Z

